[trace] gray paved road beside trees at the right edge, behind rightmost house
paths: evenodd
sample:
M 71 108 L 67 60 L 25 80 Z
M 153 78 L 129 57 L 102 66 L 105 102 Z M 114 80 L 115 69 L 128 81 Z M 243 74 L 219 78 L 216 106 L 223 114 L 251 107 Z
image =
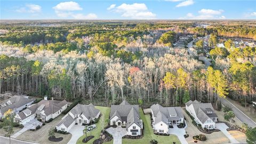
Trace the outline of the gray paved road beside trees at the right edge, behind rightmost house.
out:
M 248 124 L 249 127 L 256 127 L 256 123 L 254 121 L 252 121 L 251 118 L 249 118 L 248 116 L 246 116 L 241 110 L 239 110 L 238 108 L 236 108 L 230 101 L 228 101 L 227 99 L 224 98 L 220 98 L 220 102 L 222 103 L 222 105 L 224 105 L 225 107 L 229 107 L 233 110 L 234 114 L 236 115 L 236 117 L 242 122 L 242 123 L 246 123 Z

